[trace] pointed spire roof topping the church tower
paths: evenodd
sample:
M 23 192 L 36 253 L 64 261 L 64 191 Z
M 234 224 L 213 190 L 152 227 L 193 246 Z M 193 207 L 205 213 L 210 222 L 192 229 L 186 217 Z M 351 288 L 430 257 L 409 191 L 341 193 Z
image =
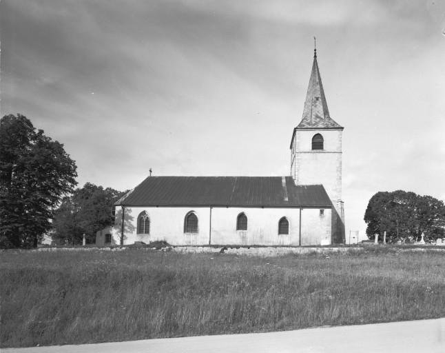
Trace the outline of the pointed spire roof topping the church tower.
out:
M 297 129 L 343 129 L 329 117 L 328 105 L 318 70 L 317 50 L 314 50 L 311 79 L 304 101 L 303 117 Z

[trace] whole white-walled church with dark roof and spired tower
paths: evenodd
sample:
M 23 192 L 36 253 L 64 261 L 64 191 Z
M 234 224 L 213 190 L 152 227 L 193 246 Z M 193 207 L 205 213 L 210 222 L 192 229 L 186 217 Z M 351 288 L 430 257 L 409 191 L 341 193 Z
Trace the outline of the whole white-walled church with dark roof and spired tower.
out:
M 342 131 L 329 115 L 314 50 L 290 175 L 147 177 L 116 202 L 116 224 L 98 232 L 96 244 L 344 243 Z

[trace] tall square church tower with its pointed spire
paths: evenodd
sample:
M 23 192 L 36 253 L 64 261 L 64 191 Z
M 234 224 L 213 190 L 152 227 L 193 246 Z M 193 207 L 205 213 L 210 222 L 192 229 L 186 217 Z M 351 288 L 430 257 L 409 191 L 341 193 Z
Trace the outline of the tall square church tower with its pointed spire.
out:
M 315 39 L 315 38 L 314 38 Z M 291 176 L 296 185 L 322 184 L 333 204 L 332 243 L 344 243 L 342 201 L 343 127 L 329 114 L 313 50 L 313 63 L 300 123 L 291 140 Z

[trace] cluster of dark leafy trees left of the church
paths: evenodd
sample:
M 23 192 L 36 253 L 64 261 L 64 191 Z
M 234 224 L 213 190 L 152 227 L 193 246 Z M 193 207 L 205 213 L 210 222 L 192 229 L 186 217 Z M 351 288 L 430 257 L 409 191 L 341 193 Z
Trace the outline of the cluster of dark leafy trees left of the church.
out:
M 45 234 L 55 243 L 81 243 L 83 234 L 112 225 L 113 203 L 123 192 L 77 185 L 76 163 L 21 114 L 0 119 L 0 248 L 37 247 Z

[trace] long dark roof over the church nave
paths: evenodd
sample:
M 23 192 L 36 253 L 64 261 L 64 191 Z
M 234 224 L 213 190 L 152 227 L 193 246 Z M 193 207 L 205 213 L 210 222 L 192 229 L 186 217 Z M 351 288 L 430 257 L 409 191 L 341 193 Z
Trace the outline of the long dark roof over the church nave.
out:
M 147 177 L 116 205 L 322 207 L 322 185 L 295 185 L 292 177 Z

